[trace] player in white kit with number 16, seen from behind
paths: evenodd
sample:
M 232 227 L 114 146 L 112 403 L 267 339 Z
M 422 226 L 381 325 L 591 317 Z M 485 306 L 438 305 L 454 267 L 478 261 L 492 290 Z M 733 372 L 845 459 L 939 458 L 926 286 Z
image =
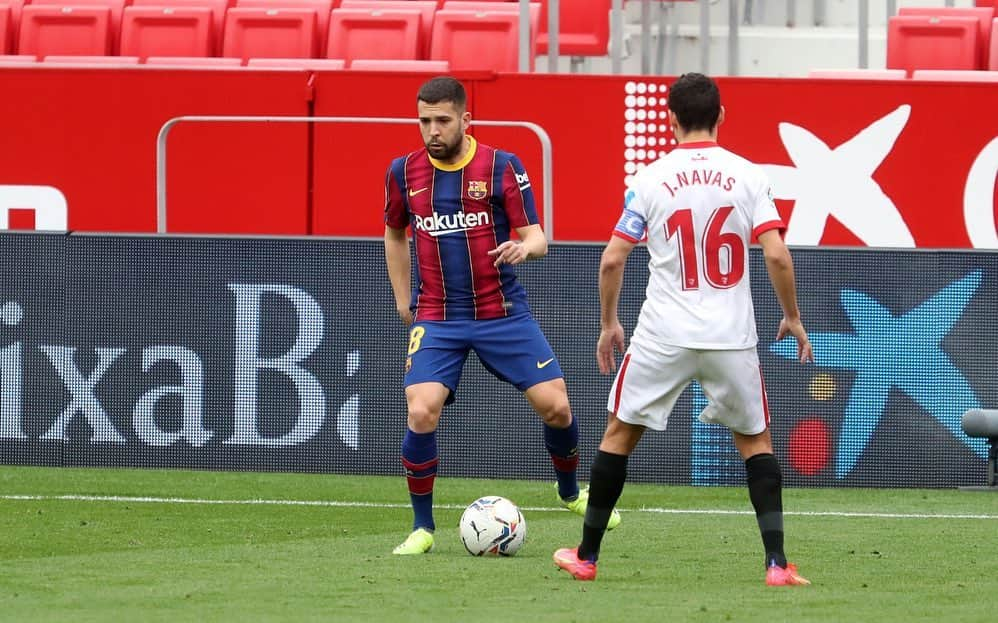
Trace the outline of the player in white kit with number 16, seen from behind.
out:
M 645 237 L 646 298 L 607 401 L 607 429 L 593 461 L 582 542 L 556 551 L 554 561 L 578 580 L 596 578 L 628 456 L 645 429 L 665 429 L 679 395 L 697 380 L 708 399 L 700 419 L 728 427 L 745 460 L 766 551 L 766 584 L 809 584 L 783 552 L 782 476 L 769 433 L 748 274 L 755 236 L 783 309 L 776 339 L 792 335 L 801 363 L 812 361 L 793 261 L 780 235 L 785 228 L 762 169 L 716 142 L 724 108 L 714 81 L 685 74 L 668 97 L 678 144 L 634 176 L 600 263 L 596 358 L 603 374 L 616 369 L 614 352 L 625 351 L 617 302 L 627 257 Z

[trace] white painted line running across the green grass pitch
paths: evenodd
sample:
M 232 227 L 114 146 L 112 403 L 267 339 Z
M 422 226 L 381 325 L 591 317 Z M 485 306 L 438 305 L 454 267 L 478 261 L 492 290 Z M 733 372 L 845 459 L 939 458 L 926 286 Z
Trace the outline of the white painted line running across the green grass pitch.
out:
M 72 502 L 131 502 L 135 504 L 217 504 L 246 506 L 322 506 L 337 508 L 409 508 L 408 504 L 384 502 L 342 502 L 338 500 L 208 500 L 201 498 L 131 497 L 120 495 L 0 495 L 0 500 L 12 501 L 72 501 Z M 458 504 L 437 504 L 436 508 L 461 510 Z M 563 508 L 524 506 L 530 512 L 559 512 Z M 750 510 L 691 509 L 691 508 L 633 508 L 631 513 L 660 513 L 665 515 L 753 515 Z M 931 513 L 852 513 L 839 511 L 784 511 L 784 515 L 799 517 L 860 517 L 870 519 L 998 519 L 998 515 L 931 514 Z

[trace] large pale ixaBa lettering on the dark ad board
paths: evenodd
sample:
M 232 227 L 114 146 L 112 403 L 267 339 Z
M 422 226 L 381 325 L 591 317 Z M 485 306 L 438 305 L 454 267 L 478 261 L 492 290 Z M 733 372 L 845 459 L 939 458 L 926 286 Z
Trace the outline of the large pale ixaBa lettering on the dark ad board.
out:
M 340 441 L 356 450 L 359 393 L 334 407 L 333 416 L 328 392 L 311 361 L 326 337 L 326 318 L 319 303 L 310 293 L 289 284 L 226 285 L 232 297 L 233 348 L 231 369 L 221 375 L 206 369 L 219 359 L 218 353 L 198 352 L 203 349 L 194 345 L 94 345 L 81 349 L 5 340 L 0 348 L 0 440 L 69 442 L 70 430 L 79 424 L 86 429 L 85 441 L 93 444 L 124 445 L 133 438 L 152 447 L 184 444 L 201 448 L 214 443 L 280 448 L 308 443 L 329 416 L 335 418 L 332 423 Z M 268 299 L 270 305 L 279 302 L 290 307 L 295 327 L 290 343 L 276 350 L 261 339 Z M 16 332 L 24 322 L 23 304 L 0 304 L 0 335 Z M 118 344 L 121 339 L 103 336 L 103 340 Z M 42 357 L 35 357 L 37 354 Z M 30 374 L 28 358 L 37 360 Z M 345 366 L 347 378 L 357 373 L 360 350 L 346 354 Z M 169 372 L 164 376 L 156 374 L 157 369 Z M 29 385 L 53 375 L 58 391 L 48 394 L 63 394 L 65 400 L 26 404 Z M 219 376 L 231 379 L 231 385 L 209 387 Z M 165 377 L 173 377 L 173 381 L 162 381 Z M 273 393 L 280 385 L 284 388 L 279 393 L 293 407 L 283 430 L 277 433 L 267 430 L 274 427 L 267 422 L 272 414 L 264 408 L 264 394 Z M 118 395 L 102 399 L 111 387 Z M 214 429 L 206 417 L 210 411 L 206 396 L 213 390 L 232 395 L 231 428 L 225 434 Z M 134 401 L 123 399 L 123 395 L 135 394 Z M 116 408 L 109 408 L 110 403 Z M 121 409 L 123 403 L 125 408 Z

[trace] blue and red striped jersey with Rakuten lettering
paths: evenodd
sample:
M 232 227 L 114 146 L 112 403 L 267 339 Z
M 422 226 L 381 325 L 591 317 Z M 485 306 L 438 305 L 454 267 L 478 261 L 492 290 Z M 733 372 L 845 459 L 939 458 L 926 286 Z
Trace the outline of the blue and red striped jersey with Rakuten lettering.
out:
M 412 227 L 418 320 L 485 320 L 529 311 L 513 267 L 488 252 L 511 229 L 539 223 L 530 180 L 513 154 L 471 141 L 455 164 L 426 149 L 392 161 L 385 224 Z

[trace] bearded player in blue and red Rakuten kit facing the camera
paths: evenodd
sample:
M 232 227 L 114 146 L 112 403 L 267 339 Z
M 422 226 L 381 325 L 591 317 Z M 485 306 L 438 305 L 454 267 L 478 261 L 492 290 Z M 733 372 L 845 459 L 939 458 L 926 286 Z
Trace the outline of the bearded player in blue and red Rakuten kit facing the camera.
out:
M 471 113 L 459 81 L 433 78 L 416 103 L 425 147 L 396 158 L 385 178 L 385 261 L 399 316 L 411 326 L 402 464 L 414 519 L 395 554 L 433 548 L 436 429 L 472 350 L 544 421 L 562 504 L 585 516 L 588 500 L 576 480 L 579 429 L 561 368 L 513 270 L 547 253 L 527 173 L 513 154 L 466 134 Z M 415 287 L 406 228 L 416 245 Z

